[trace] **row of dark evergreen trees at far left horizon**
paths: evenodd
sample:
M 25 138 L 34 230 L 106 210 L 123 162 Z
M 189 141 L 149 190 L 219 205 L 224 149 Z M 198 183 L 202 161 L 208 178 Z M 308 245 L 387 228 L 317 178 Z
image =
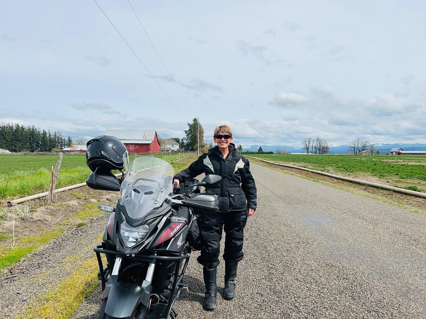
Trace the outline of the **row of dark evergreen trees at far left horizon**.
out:
M 72 138 L 64 137 L 60 131 L 40 130 L 34 125 L 24 126 L 17 123 L 0 125 L 0 148 L 11 152 L 50 152 L 55 148 L 72 145 Z

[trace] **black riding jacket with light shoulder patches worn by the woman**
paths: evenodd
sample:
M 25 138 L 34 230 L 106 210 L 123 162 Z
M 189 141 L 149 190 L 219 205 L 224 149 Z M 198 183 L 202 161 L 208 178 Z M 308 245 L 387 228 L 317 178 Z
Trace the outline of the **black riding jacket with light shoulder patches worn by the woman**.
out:
M 207 188 L 207 194 L 216 194 L 219 198 L 219 211 L 243 211 L 247 208 L 256 210 L 256 184 L 250 172 L 250 163 L 241 154 L 233 143 L 229 145 L 229 154 L 226 159 L 215 146 L 208 153 L 193 162 L 187 169 L 179 172 L 174 178 L 179 182 L 192 179 L 200 174 L 216 174 L 222 177 L 220 185 Z

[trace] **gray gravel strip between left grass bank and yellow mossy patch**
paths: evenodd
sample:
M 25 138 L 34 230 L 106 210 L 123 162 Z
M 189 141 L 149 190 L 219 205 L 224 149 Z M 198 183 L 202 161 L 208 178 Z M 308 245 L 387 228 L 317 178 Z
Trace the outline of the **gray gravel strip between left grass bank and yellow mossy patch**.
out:
M 106 197 L 115 200 L 118 194 L 104 196 L 101 200 Z M 93 258 L 93 245 L 96 237 L 104 234 L 108 218 L 109 214 L 91 217 L 86 219 L 86 226 L 67 228 L 62 236 L 2 273 L 1 277 L 17 276 L 0 283 L 1 318 L 13 318 L 30 302 L 54 289 L 84 261 Z

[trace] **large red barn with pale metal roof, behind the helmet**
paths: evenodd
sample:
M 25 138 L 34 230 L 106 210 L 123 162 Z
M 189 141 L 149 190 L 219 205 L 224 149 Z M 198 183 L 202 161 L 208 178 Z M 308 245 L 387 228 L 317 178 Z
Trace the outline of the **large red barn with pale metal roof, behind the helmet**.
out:
M 117 137 L 121 140 L 130 154 L 160 153 L 160 143 L 156 131 L 107 130 L 105 135 Z

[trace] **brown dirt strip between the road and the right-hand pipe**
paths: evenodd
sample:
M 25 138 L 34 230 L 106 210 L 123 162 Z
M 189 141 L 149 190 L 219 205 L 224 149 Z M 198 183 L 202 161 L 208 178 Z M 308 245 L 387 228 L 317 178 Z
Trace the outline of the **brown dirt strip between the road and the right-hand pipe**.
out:
M 368 197 L 376 197 L 377 199 L 393 202 L 400 205 L 406 205 L 409 208 L 420 210 L 426 214 L 426 200 L 423 197 L 417 197 L 417 196 L 412 196 L 409 194 L 398 193 L 394 191 L 389 191 L 387 189 L 376 188 L 373 186 L 357 184 L 357 183 L 349 182 L 349 181 L 342 181 L 340 179 L 335 179 L 333 177 L 328 177 L 328 176 L 317 174 L 317 173 L 303 171 L 297 168 L 290 168 L 290 167 L 268 164 L 256 159 L 250 159 L 250 160 L 253 160 L 260 165 L 269 166 L 269 167 L 279 169 L 281 171 L 289 172 L 296 176 L 309 177 L 311 179 L 316 179 L 321 182 L 327 182 L 328 184 L 337 186 L 346 191 L 363 194 Z

